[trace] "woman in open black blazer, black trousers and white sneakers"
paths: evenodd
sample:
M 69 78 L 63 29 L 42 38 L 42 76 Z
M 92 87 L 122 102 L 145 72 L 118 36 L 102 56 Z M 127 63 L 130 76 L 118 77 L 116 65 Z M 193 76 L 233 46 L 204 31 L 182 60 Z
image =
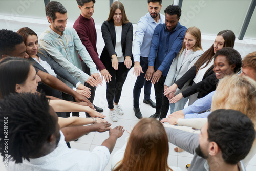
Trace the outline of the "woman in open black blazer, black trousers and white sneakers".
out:
M 123 110 L 118 104 L 122 86 L 128 71 L 133 67 L 133 25 L 127 19 L 121 2 L 115 1 L 111 5 L 109 18 L 102 24 L 101 32 L 105 47 L 100 60 L 112 75 L 111 80 L 106 83 L 106 100 L 110 119 L 117 122 L 116 114 L 123 115 Z

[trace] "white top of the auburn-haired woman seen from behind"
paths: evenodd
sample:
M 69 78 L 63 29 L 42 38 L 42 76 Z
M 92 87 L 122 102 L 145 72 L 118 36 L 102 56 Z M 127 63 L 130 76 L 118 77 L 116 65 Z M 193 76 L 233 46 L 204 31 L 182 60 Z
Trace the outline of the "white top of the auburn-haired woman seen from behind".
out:
M 116 151 L 116 153 L 113 155 L 112 160 L 111 160 L 111 169 L 114 169 L 114 166 L 123 159 L 123 155 L 127 146 L 127 142 L 129 140 L 129 136 L 125 138 L 125 144 L 123 145 L 123 147 L 121 149 L 119 149 L 118 151 Z M 170 167 L 170 166 L 169 166 Z M 182 171 L 181 168 L 179 167 L 170 167 L 173 171 Z

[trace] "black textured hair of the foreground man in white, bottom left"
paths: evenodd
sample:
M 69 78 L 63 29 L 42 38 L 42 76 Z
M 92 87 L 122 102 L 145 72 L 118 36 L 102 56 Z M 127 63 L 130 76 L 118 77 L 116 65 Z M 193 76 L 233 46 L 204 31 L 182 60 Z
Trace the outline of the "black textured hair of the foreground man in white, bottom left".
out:
M 10 94 L 0 100 L 0 106 L 0 129 L 8 124 L 8 159 L 15 163 L 30 161 L 56 132 L 57 120 L 49 113 L 48 99 L 39 93 Z M 2 156 L 6 154 L 4 139 L 0 134 Z

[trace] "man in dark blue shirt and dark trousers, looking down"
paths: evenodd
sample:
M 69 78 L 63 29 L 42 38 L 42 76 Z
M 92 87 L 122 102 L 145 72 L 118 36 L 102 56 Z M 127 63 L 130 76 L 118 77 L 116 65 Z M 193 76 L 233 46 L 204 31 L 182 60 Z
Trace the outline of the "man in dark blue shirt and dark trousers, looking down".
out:
M 165 24 L 159 24 L 153 34 L 148 56 L 147 81 L 154 84 L 156 95 L 156 113 L 150 117 L 165 118 L 169 109 L 169 100 L 163 96 L 164 81 L 173 59 L 180 51 L 187 28 L 180 25 L 181 9 L 170 5 L 165 10 Z M 160 116 L 161 114 L 161 116 Z

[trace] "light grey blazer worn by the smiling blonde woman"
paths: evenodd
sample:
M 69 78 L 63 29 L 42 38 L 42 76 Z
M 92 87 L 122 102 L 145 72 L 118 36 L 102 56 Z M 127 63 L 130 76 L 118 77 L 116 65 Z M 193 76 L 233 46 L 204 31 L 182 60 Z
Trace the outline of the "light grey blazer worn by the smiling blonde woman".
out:
M 189 70 L 196 63 L 199 57 L 201 57 L 202 54 L 204 53 L 202 50 L 198 50 L 196 52 L 190 51 L 189 54 L 187 54 L 185 60 L 183 60 L 185 52 L 186 52 L 186 49 L 183 50 L 180 56 L 177 56 L 176 58 L 174 58 L 173 63 L 170 66 L 169 72 L 166 76 L 164 85 L 168 87 L 172 86 L 175 83 L 175 80 L 180 79 L 180 77 L 182 77 L 182 75 L 185 74 L 187 70 Z M 189 83 L 190 81 L 188 81 L 183 86 L 181 91 L 187 89 L 189 87 Z M 177 91 L 175 92 L 175 94 L 178 94 L 181 91 L 177 88 Z

